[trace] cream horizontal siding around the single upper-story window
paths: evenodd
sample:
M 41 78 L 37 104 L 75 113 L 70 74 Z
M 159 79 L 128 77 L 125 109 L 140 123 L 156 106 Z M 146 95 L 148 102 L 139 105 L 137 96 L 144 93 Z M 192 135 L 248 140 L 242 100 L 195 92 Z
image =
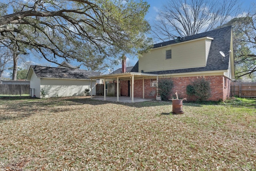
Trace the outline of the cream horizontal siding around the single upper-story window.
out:
M 210 50 L 210 42 L 210 39 L 204 38 L 152 49 L 139 58 L 139 72 L 141 70 L 152 72 L 204 67 Z M 166 59 L 166 50 L 172 50 L 171 59 Z

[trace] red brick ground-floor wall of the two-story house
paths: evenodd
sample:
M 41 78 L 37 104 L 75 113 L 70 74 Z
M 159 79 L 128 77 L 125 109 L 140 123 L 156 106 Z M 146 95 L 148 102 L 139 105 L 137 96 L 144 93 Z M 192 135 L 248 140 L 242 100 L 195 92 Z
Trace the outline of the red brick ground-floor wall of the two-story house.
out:
M 230 96 L 230 82 L 231 80 L 228 78 L 224 78 L 224 76 L 204 76 L 207 81 L 210 81 L 210 86 L 212 90 L 212 95 L 208 100 L 218 101 L 220 99 L 226 100 L 227 97 Z M 178 96 L 180 99 L 186 97 L 190 101 L 196 100 L 195 97 L 188 97 L 186 94 L 186 86 L 198 79 L 198 77 L 178 77 L 178 78 L 170 78 L 174 83 L 174 87 L 172 89 L 172 94 L 170 98 L 176 97 L 175 92 L 178 92 Z M 224 81 L 226 81 L 226 86 L 224 86 Z M 134 97 L 143 97 L 142 80 L 134 80 Z M 121 86 L 121 94 L 128 95 L 128 81 L 120 82 Z M 150 87 L 150 79 L 144 80 L 144 97 L 148 99 L 156 99 L 156 93 L 154 96 L 150 96 L 150 92 L 155 91 L 156 87 Z M 129 95 L 128 95 L 129 96 Z

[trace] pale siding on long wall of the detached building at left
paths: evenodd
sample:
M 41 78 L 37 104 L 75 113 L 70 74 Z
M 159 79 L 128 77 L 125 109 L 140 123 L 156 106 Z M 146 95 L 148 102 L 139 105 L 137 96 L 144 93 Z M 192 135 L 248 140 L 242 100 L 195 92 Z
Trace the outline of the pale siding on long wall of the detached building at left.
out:
M 95 95 L 96 81 L 92 81 L 92 94 Z M 80 96 L 84 89 L 91 90 L 90 80 L 68 80 L 68 79 L 42 79 L 41 89 L 44 89 L 45 97 L 69 97 Z

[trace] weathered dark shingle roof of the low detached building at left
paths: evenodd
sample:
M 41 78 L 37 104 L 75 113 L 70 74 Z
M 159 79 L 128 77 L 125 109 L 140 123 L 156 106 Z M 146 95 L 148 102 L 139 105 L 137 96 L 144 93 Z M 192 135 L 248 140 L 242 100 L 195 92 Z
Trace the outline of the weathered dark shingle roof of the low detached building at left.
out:
M 42 78 L 65 78 L 65 79 L 90 79 L 91 76 L 98 76 L 100 72 L 86 70 L 75 70 L 69 68 L 54 68 L 47 66 L 31 66 L 37 77 Z

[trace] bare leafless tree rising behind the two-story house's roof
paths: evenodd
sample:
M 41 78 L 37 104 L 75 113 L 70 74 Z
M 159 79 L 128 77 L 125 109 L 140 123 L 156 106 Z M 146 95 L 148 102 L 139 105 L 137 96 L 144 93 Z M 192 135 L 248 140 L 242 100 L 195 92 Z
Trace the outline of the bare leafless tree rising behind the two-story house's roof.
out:
M 159 40 L 191 36 L 222 26 L 239 0 L 172 0 L 158 13 L 153 32 Z

